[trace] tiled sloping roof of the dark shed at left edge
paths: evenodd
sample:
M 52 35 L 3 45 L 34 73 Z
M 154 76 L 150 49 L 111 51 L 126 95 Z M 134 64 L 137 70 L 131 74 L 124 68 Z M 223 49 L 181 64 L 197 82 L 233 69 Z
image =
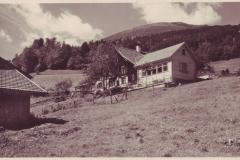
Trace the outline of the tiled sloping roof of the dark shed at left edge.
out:
M 12 66 L 10 62 L 0 59 L 0 93 L 24 92 L 27 94 L 46 94 L 47 91 Z

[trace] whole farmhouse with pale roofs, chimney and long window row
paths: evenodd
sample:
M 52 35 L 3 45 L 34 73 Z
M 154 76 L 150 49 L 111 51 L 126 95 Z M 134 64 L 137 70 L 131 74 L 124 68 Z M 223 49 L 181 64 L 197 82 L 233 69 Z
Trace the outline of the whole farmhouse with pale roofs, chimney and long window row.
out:
M 136 50 L 123 47 L 116 50 L 121 72 L 117 85 L 178 83 L 196 78 L 197 62 L 185 42 L 148 54 L 143 54 L 139 46 Z

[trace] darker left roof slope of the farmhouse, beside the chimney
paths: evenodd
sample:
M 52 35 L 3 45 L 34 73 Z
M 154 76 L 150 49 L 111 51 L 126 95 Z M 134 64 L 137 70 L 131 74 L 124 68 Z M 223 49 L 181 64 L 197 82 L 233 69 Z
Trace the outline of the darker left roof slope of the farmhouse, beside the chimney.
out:
M 137 52 L 133 49 L 128 49 L 124 47 L 116 48 L 117 52 L 127 61 L 131 62 L 132 64 L 136 64 L 144 55 Z

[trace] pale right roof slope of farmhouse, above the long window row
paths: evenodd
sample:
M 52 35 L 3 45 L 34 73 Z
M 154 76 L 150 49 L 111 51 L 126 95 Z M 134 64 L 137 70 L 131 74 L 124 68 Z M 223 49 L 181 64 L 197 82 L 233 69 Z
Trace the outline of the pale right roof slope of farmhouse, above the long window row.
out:
M 138 60 L 135 64 L 135 66 L 144 65 L 146 63 L 151 63 L 154 61 L 170 58 L 180 47 L 182 47 L 185 44 L 185 42 L 176 44 L 171 47 L 167 47 L 152 53 L 148 53 L 144 55 L 140 60 Z

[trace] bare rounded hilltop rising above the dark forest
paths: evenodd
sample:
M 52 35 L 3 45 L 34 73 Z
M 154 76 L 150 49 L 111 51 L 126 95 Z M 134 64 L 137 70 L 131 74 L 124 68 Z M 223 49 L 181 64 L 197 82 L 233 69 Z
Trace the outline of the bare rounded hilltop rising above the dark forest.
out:
M 132 37 L 142 37 L 147 36 L 151 34 L 159 34 L 164 32 L 170 32 L 170 31 L 177 31 L 177 30 L 184 30 L 184 29 L 190 29 L 200 27 L 197 25 L 191 25 L 186 24 L 182 22 L 175 22 L 175 23 L 154 23 L 154 24 L 147 24 L 139 27 L 135 27 L 126 31 L 122 31 L 116 34 L 113 34 L 109 37 L 104 38 L 104 40 L 118 40 L 118 39 L 126 39 L 126 38 L 132 38 Z

